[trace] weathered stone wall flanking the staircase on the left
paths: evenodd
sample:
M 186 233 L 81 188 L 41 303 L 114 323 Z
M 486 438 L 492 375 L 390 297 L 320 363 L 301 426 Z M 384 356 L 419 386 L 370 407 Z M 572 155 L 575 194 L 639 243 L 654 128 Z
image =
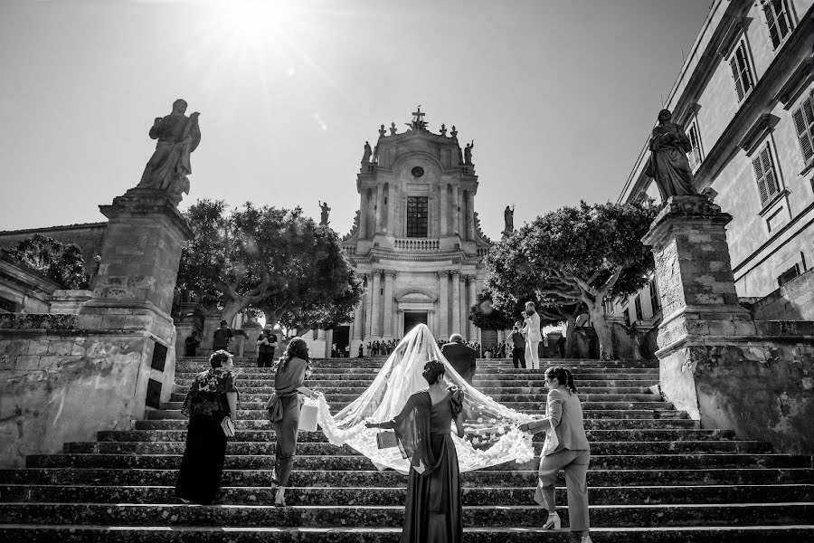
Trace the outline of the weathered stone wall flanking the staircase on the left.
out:
M 175 338 L 99 329 L 93 317 L 0 315 L 0 467 L 130 428 L 148 409 L 149 386 L 160 385 L 156 403 L 169 400 Z M 156 344 L 168 347 L 163 370 L 151 364 Z

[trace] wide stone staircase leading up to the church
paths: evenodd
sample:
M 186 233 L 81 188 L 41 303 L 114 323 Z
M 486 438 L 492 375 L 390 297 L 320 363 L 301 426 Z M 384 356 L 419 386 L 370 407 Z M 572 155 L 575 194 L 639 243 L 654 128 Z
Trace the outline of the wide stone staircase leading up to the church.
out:
M 26 469 L 0 470 L 0 541 L 398 541 L 406 477 L 376 471 L 321 433 L 300 433 L 291 507 L 273 507 L 274 435 L 263 412 L 270 369 L 235 362 L 241 420 L 227 448 L 222 505 L 184 505 L 174 496 L 186 424 L 180 390 L 208 365 L 185 358 L 176 367 L 178 394 L 132 430 L 99 432 L 96 443 L 66 443 L 62 454 L 29 456 Z M 580 389 L 592 441 L 588 484 L 597 543 L 814 541 L 810 457 L 702 430 L 650 391 L 658 382 L 653 362 L 545 362 L 571 367 Z M 338 410 L 381 365 L 382 359 L 317 360 L 308 386 Z M 542 413 L 542 373 L 481 360 L 475 385 L 505 405 Z M 564 530 L 539 528 L 546 513 L 532 500 L 535 475 L 535 462 L 462 474 L 464 540 L 567 541 Z M 567 526 L 564 488 L 557 500 Z

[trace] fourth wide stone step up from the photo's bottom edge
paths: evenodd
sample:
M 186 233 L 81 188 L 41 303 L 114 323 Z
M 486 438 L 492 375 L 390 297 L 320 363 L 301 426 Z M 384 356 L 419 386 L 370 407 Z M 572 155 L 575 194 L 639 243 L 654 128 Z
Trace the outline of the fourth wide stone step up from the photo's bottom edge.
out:
M 366 471 L 300 471 L 299 458 L 291 474 L 292 487 L 393 487 L 406 485 L 406 475 L 398 472 Z M 536 481 L 536 470 L 483 470 L 461 474 L 463 487 L 525 487 Z M 223 486 L 271 486 L 271 470 L 225 470 Z M 81 484 L 101 486 L 171 486 L 175 485 L 175 470 L 110 470 L 78 468 L 31 468 L 0 470 L 0 484 Z M 560 473 L 558 484 L 564 485 Z M 675 485 L 740 485 L 814 483 L 814 471 L 801 468 L 712 468 L 712 469 L 653 469 L 599 470 L 592 469 L 591 486 L 675 486 Z

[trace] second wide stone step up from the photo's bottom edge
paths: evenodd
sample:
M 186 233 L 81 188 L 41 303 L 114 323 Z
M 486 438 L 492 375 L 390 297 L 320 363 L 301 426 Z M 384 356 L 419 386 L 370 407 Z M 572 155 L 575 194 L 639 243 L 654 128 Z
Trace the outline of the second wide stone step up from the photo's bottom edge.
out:
M 592 525 L 612 527 L 802 524 L 814 519 L 814 503 L 591 505 Z M 558 508 L 563 524 L 568 510 Z M 533 506 L 463 508 L 465 527 L 525 528 L 545 523 L 548 512 Z M 175 504 L 0 503 L 0 518 L 14 524 L 71 523 L 117 526 L 401 527 L 402 506 L 200 507 Z

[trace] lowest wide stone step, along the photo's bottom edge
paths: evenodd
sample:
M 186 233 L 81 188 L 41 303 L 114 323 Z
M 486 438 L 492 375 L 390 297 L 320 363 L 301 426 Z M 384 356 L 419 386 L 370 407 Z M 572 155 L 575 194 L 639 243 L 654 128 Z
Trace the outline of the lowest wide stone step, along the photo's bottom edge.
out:
M 276 528 L 261 527 L 118 527 L 79 525 L 0 525 L 5 543 L 398 543 L 401 528 L 356 527 Z M 593 528 L 592 538 L 602 543 L 754 543 L 755 541 L 811 541 L 814 525 L 744 527 Z M 226 539 L 224 539 L 226 538 Z M 540 528 L 467 528 L 467 543 L 566 543 L 569 532 Z

